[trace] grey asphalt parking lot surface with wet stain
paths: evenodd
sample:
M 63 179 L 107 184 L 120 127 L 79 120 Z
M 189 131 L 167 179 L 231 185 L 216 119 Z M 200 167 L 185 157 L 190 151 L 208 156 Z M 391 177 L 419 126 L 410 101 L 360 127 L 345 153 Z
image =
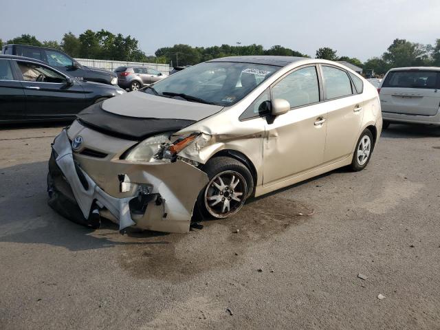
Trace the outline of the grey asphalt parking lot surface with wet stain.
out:
M 0 329 L 440 329 L 440 128 L 391 125 L 362 172 L 201 230 L 124 236 L 47 206 L 60 129 L 0 129 Z

